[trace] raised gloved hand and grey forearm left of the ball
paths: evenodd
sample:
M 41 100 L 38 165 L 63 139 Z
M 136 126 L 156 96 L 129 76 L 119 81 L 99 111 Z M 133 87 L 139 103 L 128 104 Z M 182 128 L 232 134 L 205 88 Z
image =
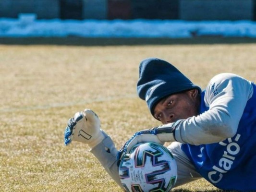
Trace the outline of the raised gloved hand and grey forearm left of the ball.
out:
M 90 152 L 96 156 L 111 178 L 122 187 L 117 166 L 118 150 L 111 138 L 100 129 L 100 120 L 95 112 L 85 109 L 75 113 L 73 118 L 68 120 L 64 144 L 69 145 L 72 141 L 88 144 Z

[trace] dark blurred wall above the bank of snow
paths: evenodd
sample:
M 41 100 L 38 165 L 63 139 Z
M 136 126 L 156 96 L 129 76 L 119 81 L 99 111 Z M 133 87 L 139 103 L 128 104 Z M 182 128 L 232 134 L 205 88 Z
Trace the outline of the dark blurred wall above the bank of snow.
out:
M 0 0 L 0 17 L 254 20 L 256 0 Z

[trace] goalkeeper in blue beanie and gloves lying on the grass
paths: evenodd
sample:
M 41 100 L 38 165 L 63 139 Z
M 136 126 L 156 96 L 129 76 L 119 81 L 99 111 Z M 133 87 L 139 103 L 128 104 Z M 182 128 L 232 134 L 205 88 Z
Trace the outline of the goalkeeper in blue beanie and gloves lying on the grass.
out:
M 205 178 L 219 189 L 256 190 L 256 85 L 221 73 L 204 91 L 165 60 L 148 58 L 139 67 L 139 97 L 162 126 L 134 134 L 122 149 L 100 129 L 91 110 L 68 122 L 65 144 L 89 144 L 110 176 L 122 187 L 118 161 L 135 144 L 172 142 L 178 167 L 175 186 Z

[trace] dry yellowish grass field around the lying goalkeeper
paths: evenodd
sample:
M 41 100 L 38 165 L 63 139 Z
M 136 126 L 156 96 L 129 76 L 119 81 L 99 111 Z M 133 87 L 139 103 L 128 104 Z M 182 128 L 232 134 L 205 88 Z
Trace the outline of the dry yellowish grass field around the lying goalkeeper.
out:
M 117 148 L 159 125 L 136 96 L 138 65 L 168 60 L 204 88 L 220 72 L 256 82 L 252 39 L 1 39 L 0 191 L 122 192 L 85 144 L 65 147 L 67 120 L 93 109 Z M 129 43 L 133 42 L 133 43 Z M 174 192 L 219 192 L 199 180 Z

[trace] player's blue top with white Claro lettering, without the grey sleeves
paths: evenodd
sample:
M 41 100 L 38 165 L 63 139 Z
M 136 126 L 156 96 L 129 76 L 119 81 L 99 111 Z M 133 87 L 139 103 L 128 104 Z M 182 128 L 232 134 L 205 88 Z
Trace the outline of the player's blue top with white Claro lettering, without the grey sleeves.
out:
M 252 86 L 234 136 L 219 143 L 182 145 L 202 177 L 222 190 L 256 191 L 256 85 Z M 200 114 L 207 110 L 203 92 Z

